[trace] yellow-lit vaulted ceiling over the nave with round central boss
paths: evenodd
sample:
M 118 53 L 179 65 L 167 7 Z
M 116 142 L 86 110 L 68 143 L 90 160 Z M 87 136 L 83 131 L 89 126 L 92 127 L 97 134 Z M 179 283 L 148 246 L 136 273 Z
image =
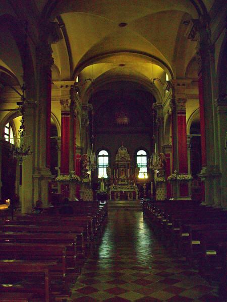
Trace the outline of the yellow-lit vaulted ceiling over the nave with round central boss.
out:
M 59 23 L 64 36 L 52 45 L 54 80 L 76 79 L 79 75 L 81 83 L 87 78 L 104 79 L 110 73 L 113 78 L 133 74 L 138 81 L 164 79 L 165 72 L 169 78 L 184 78 L 196 47 L 186 37 L 188 23 L 212 3 L 36 1 L 45 16 Z

